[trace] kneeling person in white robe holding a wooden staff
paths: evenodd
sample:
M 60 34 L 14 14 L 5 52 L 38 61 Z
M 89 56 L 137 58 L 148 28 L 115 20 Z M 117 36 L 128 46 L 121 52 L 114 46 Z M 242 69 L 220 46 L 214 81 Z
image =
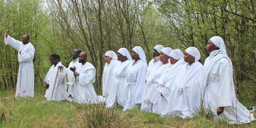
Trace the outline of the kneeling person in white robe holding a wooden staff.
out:
M 66 67 L 60 62 L 60 56 L 52 54 L 50 56 L 52 67 L 46 74 L 46 94 L 47 101 L 67 100 L 67 82 L 65 78 Z

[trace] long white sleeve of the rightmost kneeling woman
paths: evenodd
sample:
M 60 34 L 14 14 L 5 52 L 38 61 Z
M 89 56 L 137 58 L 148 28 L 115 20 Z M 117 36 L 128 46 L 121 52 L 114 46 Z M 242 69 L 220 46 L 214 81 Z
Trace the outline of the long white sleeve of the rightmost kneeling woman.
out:
M 223 59 L 222 59 L 223 60 Z M 222 61 L 219 64 L 219 96 L 218 107 L 232 106 L 232 69 L 228 61 Z

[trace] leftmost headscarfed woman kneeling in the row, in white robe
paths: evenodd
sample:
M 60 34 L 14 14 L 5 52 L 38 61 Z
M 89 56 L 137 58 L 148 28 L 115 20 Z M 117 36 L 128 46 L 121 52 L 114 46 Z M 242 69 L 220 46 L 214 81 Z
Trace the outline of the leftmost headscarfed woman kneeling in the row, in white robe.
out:
M 104 59 L 106 61 L 106 64 L 104 66 L 103 70 L 103 76 L 102 76 L 102 96 L 105 97 L 105 100 L 108 100 L 108 97 L 110 95 L 110 87 L 112 82 L 112 73 L 113 70 L 116 68 L 116 64 L 118 63 L 117 55 L 114 51 L 107 51 L 105 53 Z

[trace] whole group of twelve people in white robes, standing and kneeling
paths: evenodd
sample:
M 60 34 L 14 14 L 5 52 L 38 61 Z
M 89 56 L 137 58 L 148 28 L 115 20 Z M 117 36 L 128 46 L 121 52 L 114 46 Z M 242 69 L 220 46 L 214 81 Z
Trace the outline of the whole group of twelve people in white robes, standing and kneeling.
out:
M 34 46 L 29 36 L 22 42 L 5 32 L 5 45 L 18 51 L 18 81 L 16 97 L 34 96 Z M 201 64 L 196 47 L 184 53 L 157 45 L 153 59 L 147 65 L 142 47 L 135 46 L 131 53 L 120 48 L 117 54 L 107 51 L 104 59 L 102 96 L 93 88 L 95 67 L 87 62 L 87 54 L 75 49 L 73 61 L 66 68 L 60 56 L 50 56 L 52 64 L 45 77 L 47 101 L 71 101 L 82 104 L 105 102 L 108 108 L 116 105 L 123 110 L 140 108 L 161 116 L 193 117 L 200 107 L 211 111 L 214 119 L 243 124 L 254 120 L 253 114 L 236 98 L 233 68 L 225 43 L 219 36 L 211 37 L 206 47 L 210 56 Z M 68 85 L 68 86 L 67 86 Z

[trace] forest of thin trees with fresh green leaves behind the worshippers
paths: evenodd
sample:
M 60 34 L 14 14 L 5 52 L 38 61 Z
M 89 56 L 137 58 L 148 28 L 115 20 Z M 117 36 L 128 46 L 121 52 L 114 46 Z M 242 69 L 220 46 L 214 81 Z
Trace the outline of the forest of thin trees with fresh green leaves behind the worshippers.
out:
M 256 0 L 0 0 L 0 90 L 14 89 L 17 51 L 4 45 L 4 32 L 35 46 L 35 86 L 44 85 L 49 55 L 68 66 L 73 49 L 88 53 L 101 88 L 104 54 L 142 46 L 147 62 L 157 44 L 197 47 L 201 62 L 212 36 L 223 37 L 233 63 L 239 100 L 256 101 Z

